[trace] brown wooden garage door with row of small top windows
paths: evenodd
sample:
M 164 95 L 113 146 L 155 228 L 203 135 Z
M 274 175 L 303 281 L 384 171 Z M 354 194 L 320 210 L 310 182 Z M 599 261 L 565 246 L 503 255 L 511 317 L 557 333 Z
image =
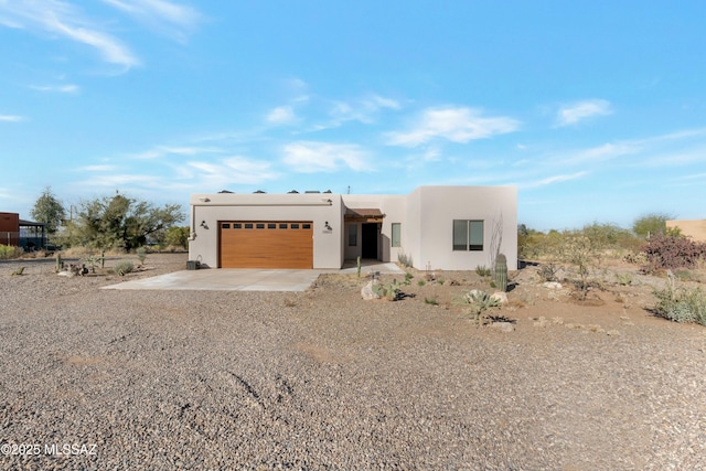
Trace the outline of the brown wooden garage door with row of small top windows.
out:
M 223 221 L 221 268 L 313 268 L 313 223 Z

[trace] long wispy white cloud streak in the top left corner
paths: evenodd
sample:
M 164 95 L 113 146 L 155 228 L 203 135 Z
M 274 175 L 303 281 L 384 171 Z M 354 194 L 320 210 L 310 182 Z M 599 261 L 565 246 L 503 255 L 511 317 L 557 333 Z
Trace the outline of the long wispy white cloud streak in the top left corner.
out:
M 28 31 L 41 31 L 88 45 L 111 64 L 130 68 L 140 63 L 116 36 L 101 31 L 71 3 L 61 0 L 0 2 L 0 22 Z

